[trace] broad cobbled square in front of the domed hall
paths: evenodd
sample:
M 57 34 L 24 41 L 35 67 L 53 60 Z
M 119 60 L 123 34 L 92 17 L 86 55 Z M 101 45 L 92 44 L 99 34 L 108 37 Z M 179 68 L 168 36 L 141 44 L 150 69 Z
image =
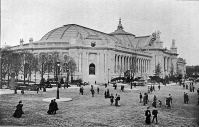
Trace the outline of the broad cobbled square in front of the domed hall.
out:
M 173 126 L 173 127 L 197 127 L 199 126 L 199 106 L 197 106 L 196 91 L 189 92 L 184 90 L 182 86 L 166 86 L 161 90 L 149 93 L 149 104 L 143 106 L 139 103 L 139 93 L 147 91 L 147 86 L 138 86 L 138 90 L 130 90 L 130 86 L 125 85 L 124 92 L 120 91 L 120 87 L 114 90 L 112 85 L 108 88 L 110 93 L 119 94 L 121 97 L 120 106 L 110 105 L 110 100 L 104 98 L 104 86 L 100 87 L 100 94 L 96 92 L 92 97 L 90 86 L 84 87 L 84 95 L 79 95 L 79 89 L 60 89 L 60 98 L 68 97 L 73 100 L 70 102 L 58 102 L 59 110 L 56 115 L 48 115 L 47 110 L 49 103 L 42 101 L 44 98 L 55 97 L 56 89 L 47 92 L 30 92 L 25 94 L 3 94 L 0 95 L 0 125 L 6 126 L 65 126 L 65 127 L 140 127 L 147 126 L 145 124 L 144 111 L 147 106 L 151 106 L 153 96 L 156 95 L 158 100 L 162 100 L 170 93 L 173 98 L 171 109 L 158 107 L 158 121 L 156 125 L 152 123 L 150 126 Z M 195 85 L 196 89 L 199 83 Z M 156 88 L 157 89 L 157 88 Z M 190 98 L 190 104 L 183 103 L 183 93 L 187 92 Z M 16 105 L 22 100 L 24 113 L 22 118 L 12 117 Z M 152 110 L 152 108 L 151 108 Z

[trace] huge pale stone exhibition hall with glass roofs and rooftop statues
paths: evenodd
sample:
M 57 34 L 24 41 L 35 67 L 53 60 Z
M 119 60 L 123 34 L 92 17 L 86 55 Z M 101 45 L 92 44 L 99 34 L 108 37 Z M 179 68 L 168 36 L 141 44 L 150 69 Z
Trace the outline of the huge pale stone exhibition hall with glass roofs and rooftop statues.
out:
M 169 75 L 171 68 L 176 72 L 177 47 L 175 40 L 170 50 L 163 48 L 160 32 L 148 36 L 136 37 L 124 31 L 119 20 L 117 29 L 112 33 L 103 33 L 76 24 L 63 25 L 46 33 L 39 41 L 13 46 L 12 50 L 27 50 L 36 56 L 58 52 L 61 64 L 64 58 L 74 58 L 77 69 L 74 79 L 84 82 L 105 83 L 114 77 L 124 76 L 125 72 L 148 78 L 154 75 L 155 67 L 160 63 L 162 77 Z M 62 66 L 62 75 L 66 75 Z M 53 72 L 50 73 L 53 77 Z M 47 77 L 46 77 L 47 78 Z

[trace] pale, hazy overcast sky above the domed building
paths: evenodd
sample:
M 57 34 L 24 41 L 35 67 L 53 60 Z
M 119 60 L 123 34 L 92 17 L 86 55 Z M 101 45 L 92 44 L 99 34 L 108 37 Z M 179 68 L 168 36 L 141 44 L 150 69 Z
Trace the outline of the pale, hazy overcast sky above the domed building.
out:
M 119 18 L 136 36 L 159 30 L 164 47 L 176 40 L 178 57 L 199 65 L 199 1 L 197 0 L 1 0 L 1 47 L 38 41 L 47 32 L 78 24 L 105 33 Z

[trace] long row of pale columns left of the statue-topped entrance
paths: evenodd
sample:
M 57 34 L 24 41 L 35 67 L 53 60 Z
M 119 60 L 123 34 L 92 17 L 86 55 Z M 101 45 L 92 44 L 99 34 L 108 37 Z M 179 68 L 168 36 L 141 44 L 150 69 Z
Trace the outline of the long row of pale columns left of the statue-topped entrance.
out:
M 127 70 L 133 70 L 140 75 L 150 72 L 150 59 L 140 58 L 138 56 L 125 56 L 115 54 L 114 72 L 123 73 Z

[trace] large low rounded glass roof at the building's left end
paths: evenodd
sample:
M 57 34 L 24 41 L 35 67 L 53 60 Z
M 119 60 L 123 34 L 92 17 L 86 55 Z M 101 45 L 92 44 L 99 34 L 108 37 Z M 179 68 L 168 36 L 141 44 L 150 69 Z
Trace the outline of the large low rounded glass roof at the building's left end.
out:
M 40 42 L 70 42 L 72 39 L 99 39 L 117 42 L 118 39 L 106 33 L 86 28 L 76 24 L 63 25 L 46 33 Z

